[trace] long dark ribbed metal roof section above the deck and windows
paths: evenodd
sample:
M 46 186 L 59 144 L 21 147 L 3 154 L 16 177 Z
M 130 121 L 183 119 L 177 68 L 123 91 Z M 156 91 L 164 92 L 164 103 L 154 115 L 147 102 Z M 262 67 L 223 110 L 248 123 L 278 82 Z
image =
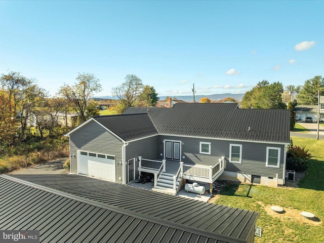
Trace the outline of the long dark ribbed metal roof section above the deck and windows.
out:
M 175 104 L 152 110 L 159 134 L 289 143 L 286 109 L 238 109 L 235 103 Z M 250 128 L 250 131 L 249 131 Z

